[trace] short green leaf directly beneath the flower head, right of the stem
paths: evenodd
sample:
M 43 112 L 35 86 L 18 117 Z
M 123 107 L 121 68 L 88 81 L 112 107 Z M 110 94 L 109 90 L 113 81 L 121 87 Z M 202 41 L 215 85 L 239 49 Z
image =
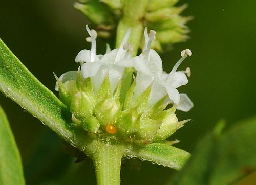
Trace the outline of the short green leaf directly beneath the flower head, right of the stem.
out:
M 190 153 L 163 143 L 152 143 L 143 148 L 132 148 L 127 154 L 176 170 L 180 170 L 190 157 Z

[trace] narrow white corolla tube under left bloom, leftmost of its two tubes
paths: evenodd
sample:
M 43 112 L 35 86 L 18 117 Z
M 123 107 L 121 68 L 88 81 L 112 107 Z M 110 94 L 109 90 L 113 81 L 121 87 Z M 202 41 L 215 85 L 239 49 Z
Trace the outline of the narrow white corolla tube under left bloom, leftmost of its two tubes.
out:
M 95 76 L 92 77 L 93 90 L 95 94 L 97 94 L 97 92 L 99 91 L 99 88 L 101 87 L 107 72 L 108 67 L 106 65 L 102 65 L 99 68 L 98 73 L 96 73 Z

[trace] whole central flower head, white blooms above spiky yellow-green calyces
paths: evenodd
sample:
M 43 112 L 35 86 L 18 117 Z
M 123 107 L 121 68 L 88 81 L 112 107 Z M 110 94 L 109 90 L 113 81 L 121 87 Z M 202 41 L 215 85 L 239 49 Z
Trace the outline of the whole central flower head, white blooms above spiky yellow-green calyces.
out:
M 188 82 L 189 68 L 177 68 L 192 55 L 190 50 L 181 52 L 181 59 L 167 74 L 160 56 L 150 49 L 155 31 L 148 34 L 145 29 L 145 47 L 139 56 L 131 57 L 130 29 L 120 47 L 108 48 L 104 55 L 96 54 L 97 32 L 86 29 L 91 50 L 78 53 L 75 61 L 81 66 L 77 71 L 56 77 L 55 89 L 70 108 L 75 127 L 91 137 L 143 145 L 164 140 L 188 121 L 179 122 L 175 111 L 193 107 L 187 95 L 177 90 Z M 173 107 L 167 109 L 168 104 Z

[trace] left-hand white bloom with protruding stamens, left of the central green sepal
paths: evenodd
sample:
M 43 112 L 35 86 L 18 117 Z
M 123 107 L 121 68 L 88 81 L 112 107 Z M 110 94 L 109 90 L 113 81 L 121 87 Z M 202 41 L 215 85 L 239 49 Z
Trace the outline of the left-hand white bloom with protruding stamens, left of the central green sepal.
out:
M 82 50 L 76 57 L 76 62 L 81 63 L 81 73 L 84 78 L 91 77 L 94 85 L 94 90 L 97 92 L 106 76 L 109 75 L 112 91 L 115 90 L 118 82 L 122 79 L 125 63 L 131 58 L 130 52 L 132 47 L 127 44 L 131 29 L 127 31 L 119 48 L 106 52 L 105 55 L 96 55 L 96 37 L 95 30 L 86 29 L 91 37 L 87 41 L 92 42 L 92 49 Z M 123 62 L 124 61 L 124 62 Z M 127 62 L 125 62 L 127 61 Z

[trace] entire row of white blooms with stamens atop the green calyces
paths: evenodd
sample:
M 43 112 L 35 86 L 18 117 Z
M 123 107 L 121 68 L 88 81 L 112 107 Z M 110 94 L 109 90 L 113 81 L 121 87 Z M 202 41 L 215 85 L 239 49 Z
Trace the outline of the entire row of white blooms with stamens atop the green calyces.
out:
M 145 47 L 143 52 L 136 57 L 131 57 L 133 47 L 127 43 L 131 29 L 125 34 L 119 48 L 110 50 L 107 46 L 104 55 L 96 54 L 97 32 L 90 30 L 88 25 L 86 25 L 86 30 L 90 35 L 87 41 L 92 43 L 91 50 L 81 50 L 76 56 L 75 61 L 80 63 L 83 77 L 90 77 L 92 79 L 95 93 L 101 87 L 106 75 L 109 76 L 111 90 L 114 92 L 117 84 L 123 77 L 125 67 L 134 67 L 137 70 L 136 86 L 133 94 L 134 100 L 151 85 L 148 107 L 153 106 L 166 95 L 168 95 L 167 101 L 173 103 L 179 110 L 189 111 L 194 106 L 186 94 L 180 94 L 177 90 L 178 87 L 187 84 L 187 76 L 191 74 L 189 67 L 185 71 L 177 71 L 182 61 L 188 55 L 192 55 L 191 50 L 181 51 L 180 60 L 174 65 L 172 71 L 167 74 L 163 72 L 160 56 L 155 50 L 150 49 L 152 41 L 156 38 L 154 30 L 151 30 L 148 34 L 145 28 Z M 79 70 L 80 68 L 78 68 Z M 76 76 L 77 71 L 70 71 L 62 74 L 59 80 L 64 83 L 68 80 L 75 80 Z M 55 89 L 58 90 L 57 83 Z

